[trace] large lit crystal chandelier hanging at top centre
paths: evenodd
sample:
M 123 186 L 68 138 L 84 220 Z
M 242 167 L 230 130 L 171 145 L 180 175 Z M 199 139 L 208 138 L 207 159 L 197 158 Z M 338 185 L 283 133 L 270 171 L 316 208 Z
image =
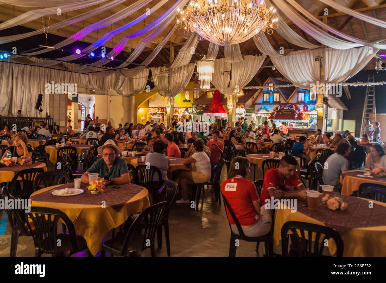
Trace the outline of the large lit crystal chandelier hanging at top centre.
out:
M 177 30 L 220 45 L 244 42 L 260 31 L 272 34 L 279 27 L 276 10 L 264 0 L 191 0 L 177 11 Z

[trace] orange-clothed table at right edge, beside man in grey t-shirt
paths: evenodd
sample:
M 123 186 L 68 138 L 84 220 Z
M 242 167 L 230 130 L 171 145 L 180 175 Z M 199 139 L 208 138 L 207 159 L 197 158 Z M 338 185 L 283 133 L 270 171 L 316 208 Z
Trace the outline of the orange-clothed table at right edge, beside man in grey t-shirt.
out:
M 357 175 L 363 175 L 365 170 L 351 170 L 344 171 L 340 175 L 340 183 L 342 184 L 342 195 L 350 196 L 355 191 L 359 190 L 359 186 L 363 183 L 371 183 L 374 185 L 383 185 L 386 186 L 386 178 L 378 177 L 374 174 L 371 174 L 372 178 L 361 177 Z

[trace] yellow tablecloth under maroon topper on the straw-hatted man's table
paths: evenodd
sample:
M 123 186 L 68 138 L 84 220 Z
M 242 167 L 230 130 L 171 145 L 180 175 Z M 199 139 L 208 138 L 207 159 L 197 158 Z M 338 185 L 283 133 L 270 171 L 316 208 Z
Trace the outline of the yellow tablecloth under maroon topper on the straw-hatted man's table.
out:
M 51 190 L 51 186 L 36 191 L 31 196 Z M 71 203 L 52 203 L 32 201 L 31 206 L 56 208 L 63 211 L 74 223 L 76 233 L 86 239 L 88 249 L 95 255 L 102 244 L 103 237 L 113 228 L 119 227 L 132 213 L 138 213 L 150 206 L 149 192 L 143 189 L 125 205 L 116 211 L 110 206 L 102 208 L 101 205 L 85 205 Z

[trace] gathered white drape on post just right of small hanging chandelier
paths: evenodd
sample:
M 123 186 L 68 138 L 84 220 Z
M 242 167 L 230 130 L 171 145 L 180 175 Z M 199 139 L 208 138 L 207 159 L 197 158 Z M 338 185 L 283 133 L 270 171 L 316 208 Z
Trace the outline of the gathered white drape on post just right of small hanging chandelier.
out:
M 237 94 L 252 80 L 265 59 L 266 55 L 247 55 L 243 61 L 235 63 L 226 62 L 225 58 L 216 59 L 212 84 L 225 97 Z M 232 70 L 232 80 L 228 73 L 230 70 Z

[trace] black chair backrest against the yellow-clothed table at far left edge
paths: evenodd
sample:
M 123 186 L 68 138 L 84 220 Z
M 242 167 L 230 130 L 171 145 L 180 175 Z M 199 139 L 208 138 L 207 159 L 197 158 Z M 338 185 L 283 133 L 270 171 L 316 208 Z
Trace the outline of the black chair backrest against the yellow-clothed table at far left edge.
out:
M 21 188 L 22 199 L 29 199 L 30 195 L 34 192 L 34 180 L 40 172 L 43 172 L 43 168 L 30 168 L 17 172 L 12 178 L 9 185 L 9 193 L 15 195 L 17 190 Z M 20 186 L 20 187 L 19 187 Z

